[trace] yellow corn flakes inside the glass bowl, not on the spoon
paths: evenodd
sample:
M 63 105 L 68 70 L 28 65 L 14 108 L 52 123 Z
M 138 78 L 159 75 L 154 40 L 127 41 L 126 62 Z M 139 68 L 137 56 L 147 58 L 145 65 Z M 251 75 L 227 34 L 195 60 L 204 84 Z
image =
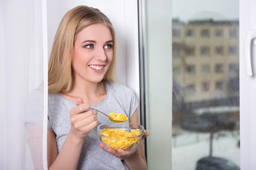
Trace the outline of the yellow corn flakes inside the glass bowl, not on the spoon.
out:
M 140 130 L 134 129 L 131 132 L 126 132 L 124 129 L 103 129 L 99 131 L 102 136 L 108 137 L 101 137 L 102 142 L 107 144 L 113 150 L 122 149 L 127 150 L 131 149 L 134 144 L 137 144 L 140 141 L 141 137 L 132 138 L 135 136 L 139 136 Z

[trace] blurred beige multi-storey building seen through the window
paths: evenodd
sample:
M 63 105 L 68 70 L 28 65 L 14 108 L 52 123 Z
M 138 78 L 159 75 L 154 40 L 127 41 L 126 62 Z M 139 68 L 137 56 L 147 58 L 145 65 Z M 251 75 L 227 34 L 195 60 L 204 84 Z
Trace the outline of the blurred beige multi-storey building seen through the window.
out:
M 172 21 L 173 81 L 183 108 L 239 105 L 239 21 Z

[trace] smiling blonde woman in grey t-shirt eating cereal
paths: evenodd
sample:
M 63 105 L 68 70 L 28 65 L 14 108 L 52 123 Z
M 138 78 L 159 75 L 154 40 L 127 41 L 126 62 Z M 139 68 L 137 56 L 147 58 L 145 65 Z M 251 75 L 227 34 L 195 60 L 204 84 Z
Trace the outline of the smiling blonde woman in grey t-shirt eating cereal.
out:
M 130 151 L 107 149 L 96 127 L 110 120 L 86 111 L 124 113 L 139 123 L 135 94 L 113 82 L 115 47 L 112 24 L 98 9 L 78 6 L 61 20 L 48 70 L 49 170 L 147 169 L 141 142 Z

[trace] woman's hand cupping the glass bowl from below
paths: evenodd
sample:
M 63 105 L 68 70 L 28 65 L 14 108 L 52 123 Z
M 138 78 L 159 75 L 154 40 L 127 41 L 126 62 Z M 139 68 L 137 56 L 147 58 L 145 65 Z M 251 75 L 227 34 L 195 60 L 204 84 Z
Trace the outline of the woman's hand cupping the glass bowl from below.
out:
M 149 135 L 148 130 L 144 130 L 144 135 L 142 136 L 142 139 L 144 139 L 148 135 Z M 132 150 L 118 149 L 117 151 L 115 151 L 115 150 L 113 150 L 111 148 L 107 148 L 104 144 L 100 144 L 100 147 L 103 150 L 105 150 L 106 152 L 111 153 L 113 156 L 116 156 L 117 158 L 120 158 L 120 159 L 123 160 L 123 159 L 129 158 L 131 155 L 133 155 L 135 153 L 135 151 L 138 149 L 139 144 L 136 147 L 134 147 Z

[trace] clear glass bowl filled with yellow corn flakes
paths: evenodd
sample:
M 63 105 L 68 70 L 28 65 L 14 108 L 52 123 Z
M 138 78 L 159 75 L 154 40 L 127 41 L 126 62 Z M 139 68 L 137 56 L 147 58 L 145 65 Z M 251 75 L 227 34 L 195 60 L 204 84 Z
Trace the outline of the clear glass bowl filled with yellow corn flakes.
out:
M 144 127 L 135 123 L 106 123 L 97 127 L 99 138 L 113 150 L 131 150 L 144 134 Z

